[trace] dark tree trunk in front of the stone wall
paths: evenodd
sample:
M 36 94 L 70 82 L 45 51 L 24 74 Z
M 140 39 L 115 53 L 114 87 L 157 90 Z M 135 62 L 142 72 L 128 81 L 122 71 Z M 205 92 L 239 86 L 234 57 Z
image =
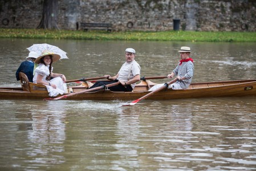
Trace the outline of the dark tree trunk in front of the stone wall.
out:
M 36 28 L 57 29 L 58 0 L 43 1 L 43 16 Z

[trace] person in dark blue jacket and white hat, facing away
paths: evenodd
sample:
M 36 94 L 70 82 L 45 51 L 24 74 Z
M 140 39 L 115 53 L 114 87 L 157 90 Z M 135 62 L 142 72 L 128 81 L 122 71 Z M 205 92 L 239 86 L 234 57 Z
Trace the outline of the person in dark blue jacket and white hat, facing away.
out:
M 26 60 L 21 63 L 18 70 L 16 71 L 16 79 L 19 81 L 19 72 L 23 72 L 27 75 L 29 82 L 33 82 L 33 72 L 34 72 L 34 63 L 35 59 L 38 58 L 38 54 L 36 52 L 30 52 L 29 56 L 26 57 Z

